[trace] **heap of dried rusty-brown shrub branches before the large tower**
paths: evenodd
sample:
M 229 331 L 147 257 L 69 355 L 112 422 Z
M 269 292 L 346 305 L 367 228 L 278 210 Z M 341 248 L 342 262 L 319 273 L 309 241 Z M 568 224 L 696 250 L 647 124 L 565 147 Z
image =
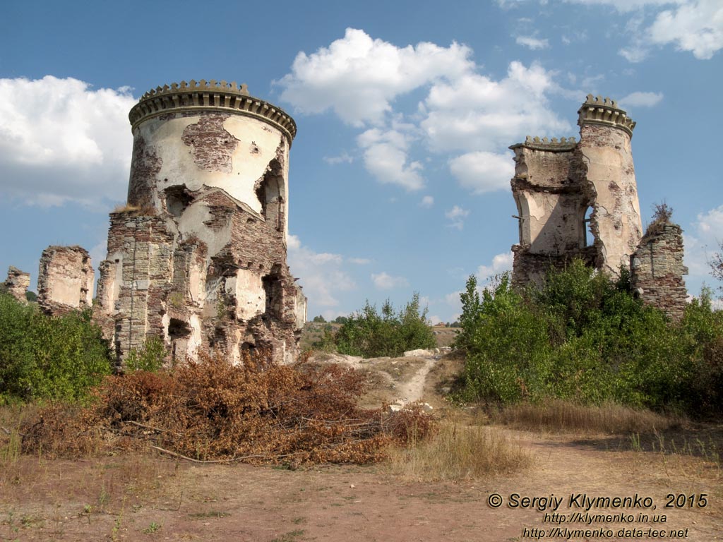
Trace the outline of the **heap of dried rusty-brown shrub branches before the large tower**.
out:
M 365 380 L 353 369 L 269 360 L 247 356 L 234 365 L 200 356 L 172 371 L 108 377 L 74 423 L 103 429 L 115 447 L 141 441 L 192 460 L 291 465 L 372 463 L 385 458 L 390 442 L 405 442 L 411 424 L 416 438 L 431 431 L 421 411 L 359 408 Z M 54 434 L 56 426 L 38 431 Z

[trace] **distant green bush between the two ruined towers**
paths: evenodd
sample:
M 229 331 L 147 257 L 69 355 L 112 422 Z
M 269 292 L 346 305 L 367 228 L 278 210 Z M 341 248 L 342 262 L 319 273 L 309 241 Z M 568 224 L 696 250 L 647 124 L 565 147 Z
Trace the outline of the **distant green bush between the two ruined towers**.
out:
M 389 300 L 382 305 L 382 314 L 367 301 L 361 312 L 351 314 L 342 324 L 334 342 L 339 353 L 365 358 L 401 356 L 405 350 L 437 345 L 427 309 L 420 311 L 419 293 L 398 312 Z

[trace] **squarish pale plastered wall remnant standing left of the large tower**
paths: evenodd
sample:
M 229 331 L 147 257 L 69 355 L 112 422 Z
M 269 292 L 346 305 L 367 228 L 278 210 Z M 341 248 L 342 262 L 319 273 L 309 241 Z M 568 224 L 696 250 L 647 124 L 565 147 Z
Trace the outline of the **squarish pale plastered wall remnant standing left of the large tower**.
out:
M 93 306 L 95 274 L 90 254 L 80 246 L 48 246 L 40 257 L 38 305 L 47 314 Z

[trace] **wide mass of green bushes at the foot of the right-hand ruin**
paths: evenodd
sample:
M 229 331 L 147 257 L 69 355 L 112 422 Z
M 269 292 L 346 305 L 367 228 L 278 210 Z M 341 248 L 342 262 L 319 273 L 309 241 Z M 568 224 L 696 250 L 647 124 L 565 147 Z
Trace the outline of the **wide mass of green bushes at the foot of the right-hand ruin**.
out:
M 471 277 L 461 299 L 464 400 L 723 411 L 723 313 L 709 292 L 676 324 L 633 296 L 625 272 L 614 282 L 576 260 L 537 290 L 502 275 L 480 295 Z

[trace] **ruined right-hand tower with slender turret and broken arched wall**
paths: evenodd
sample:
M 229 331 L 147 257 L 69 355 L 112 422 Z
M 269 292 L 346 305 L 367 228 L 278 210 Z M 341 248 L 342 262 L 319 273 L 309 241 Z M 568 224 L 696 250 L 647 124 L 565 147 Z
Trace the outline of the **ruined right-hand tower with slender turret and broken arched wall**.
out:
M 614 100 L 588 95 L 580 141 L 528 137 L 513 145 L 520 242 L 513 283 L 539 283 L 550 266 L 581 257 L 617 275 L 642 236 L 630 139 L 635 122 Z

